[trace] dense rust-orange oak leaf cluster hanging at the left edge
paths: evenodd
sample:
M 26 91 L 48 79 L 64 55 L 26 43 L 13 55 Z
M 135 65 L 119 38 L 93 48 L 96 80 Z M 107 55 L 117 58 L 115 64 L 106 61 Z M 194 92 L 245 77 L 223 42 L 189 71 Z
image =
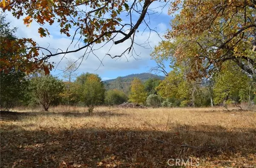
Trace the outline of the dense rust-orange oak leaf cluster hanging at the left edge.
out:
M 10 29 L 9 24 L 5 20 L 5 15 L 0 14 L 0 70 L 5 73 L 12 69 L 25 73 L 44 70 L 46 74 L 49 74 L 49 70 L 52 70 L 53 66 L 47 60 L 38 60 L 39 48 L 36 47 L 36 42 L 29 38 L 17 38 L 15 36 L 17 28 Z

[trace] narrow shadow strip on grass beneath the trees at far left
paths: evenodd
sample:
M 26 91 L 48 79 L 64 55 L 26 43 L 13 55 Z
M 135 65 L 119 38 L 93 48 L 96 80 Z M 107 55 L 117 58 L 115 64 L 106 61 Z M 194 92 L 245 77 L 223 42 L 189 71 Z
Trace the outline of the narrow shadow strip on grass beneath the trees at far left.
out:
M 125 113 L 114 113 L 114 112 L 93 112 L 89 114 L 88 112 L 9 112 L 9 111 L 0 111 L 0 120 L 22 120 L 26 117 L 33 116 L 64 116 L 64 117 L 112 117 L 112 116 L 123 116 L 128 115 Z

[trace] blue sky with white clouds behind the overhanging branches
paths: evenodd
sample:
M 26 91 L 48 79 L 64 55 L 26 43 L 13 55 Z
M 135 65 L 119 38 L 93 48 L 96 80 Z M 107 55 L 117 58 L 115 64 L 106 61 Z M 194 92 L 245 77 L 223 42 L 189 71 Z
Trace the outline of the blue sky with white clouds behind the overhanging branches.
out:
M 132 3 L 133 1 L 129 1 L 128 3 Z M 134 49 L 137 54 L 140 56 L 132 57 L 131 55 L 127 56 L 127 59 L 125 57 L 121 57 L 119 59 L 111 59 L 109 56 L 106 56 L 105 53 L 109 53 L 112 56 L 113 55 L 120 55 L 126 48 L 128 48 L 131 45 L 130 40 L 126 40 L 125 42 L 114 45 L 111 48 L 110 43 L 105 45 L 104 47 L 100 48 L 99 50 L 95 50 L 94 54 L 102 61 L 99 61 L 99 59 L 90 53 L 87 57 L 87 59 L 84 59 L 83 62 L 81 62 L 79 68 L 76 70 L 76 73 L 79 75 L 81 73 L 97 73 L 102 78 L 102 80 L 108 80 L 112 78 L 117 78 L 118 76 L 126 76 L 133 73 L 148 73 L 150 71 L 151 67 L 156 66 L 157 64 L 154 62 L 154 60 L 151 60 L 150 53 L 153 51 L 154 46 L 158 44 L 163 38 L 163 35 L 165 34 L 166 30 L 170 28 L 169 22 L 172 19 L 171 16 L 169 16 L 168 13 L 168 5 L 163 8 L 157 8 L 158 6 L 163 6 L 163 2 L 155 1 L 151 4 L 150 9 L 157 11 L 158 13 L 153 14 L 150 16 L 150 23 L 149 26 L 154 29 L 156 28 L 156 31 L 158 34 L 160 34 L 161 38 L 157 35 L 157 33 L 149 32 L 149 30 L 144 30 L 145 24 L 143 23 L 138 28 L 138 33 L 136 33 L 135 36 L 135 42 L 138 44 L 145 43 L 145 41 L 148 39 L 149 36 L 149 44 L 150 46 L 146 46 L 146 48 L 134 45 Z M 22 38 L 32 38 L 35 42 L 37 42 L 42 47 L 48 47 L 49 49 L 55 53 L 57 48 L 60 48 L 62 50 L 67 50 L 67 47 L 70 45 L 70 42 L 72 41 L 72 37 L 67 37 L 65 35 L 61 35 L 59 32 L 59 27 L 57 24 L 53 25 L 46 25 L 46 28 L 49 30 L 50 36 L 41 38 L 38 34 L 38 28 L 41 27 L 37 22 L 33 21 L 30 27 L 26 27 L 26 25 L 23 24 L 23 18 L 20 17 L 19 20 L 17 18 L 13 17 L 11 13 L 6 12 L 6 21 L 10 22 L 11 28 L 17 27 L 16 36 Z M 126 22 L 127 17 L 125 15 L 121 16 L 122 22 Z M 133 20 L 136 21 L 138 18 L 137 14 L 133 15 Z M 149 21 L 148 17 L 145 18 L 146 22 Z M 127 20 L 128 21 L 128 20 Z M 74 32 L 75 28 L 72 28 L 70 31 L 70 34 L 72 34 L 72 31 Z M 142 34 L 143 32 L 143 34 Z M 149 35 L 150 34 L 150 35 Z M 119 36 L 121 38 L 121 36 Z M 77 39 L 78 40 L 78 39 Z M 94 45 L 93 48 L 99 48 L 102 44 Z M 70 46 L 70 50 L 73 49 L 74 46 Z M 109 50 L 111 48 L 111 50 Z M 65 67 L 67 64 L 67 61 L 73 61 L 75 62 L 79 56 L 83 55 L 84 51 L 81 50 L 76 53 L 70 53 L 65 56 L 64 59 L 62 59 L 63 55 L 54 56 L 49 59 L 49 62 L 55 62 L 54 66 L 55 69 L 51 71 L 52 75 L 59 76 L 61 78 L 61 69 Z M 59 64 L 58 64 L 59 63 Z M 80 61 L 78 62 L 78 64 Z M 58 64 L 58 66 L 57 66 Z M 170 68 L 168 66 L 168 62 L 166 62 L 166 70 L 167 72 L 170 71 Z M 163 74 L 159 74 L 163 75 Z

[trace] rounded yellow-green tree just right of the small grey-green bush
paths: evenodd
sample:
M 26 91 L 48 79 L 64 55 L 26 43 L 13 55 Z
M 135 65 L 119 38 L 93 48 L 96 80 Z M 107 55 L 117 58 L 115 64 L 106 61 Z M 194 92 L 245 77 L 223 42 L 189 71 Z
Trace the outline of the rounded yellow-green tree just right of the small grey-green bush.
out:
M 206 95 L 208 92 L 205 92 L 201 83 L 201 80 L 192 80 L 186 75 L 186 67 L 177 66 L 160 82 L 156 90 L 162 98 L 172 100 L 173 106 L 206 106 L 210 96 Z

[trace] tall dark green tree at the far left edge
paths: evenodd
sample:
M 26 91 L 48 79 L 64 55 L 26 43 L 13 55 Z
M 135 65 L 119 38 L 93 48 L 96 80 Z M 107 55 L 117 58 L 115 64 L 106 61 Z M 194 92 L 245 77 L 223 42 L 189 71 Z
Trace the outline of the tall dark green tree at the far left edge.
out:
M 17 28 L 9 28 L 9 22 L 6 23 L 5 16 L 0 14 L 0 106 L 1 109 L 5 110 L 9 110 L 12 106 L 23 100 L 24 95 L 28 91 L 29 84 L 26 74 L 19 70 L 16 65 L 6 66 L 6 64 L 15 62 L 12 57 L 14 51 L 9 50 L 9 52 L 6 52 L 6 44 L 3 44 L 3 42 L 16 40 L 16 30 Z M 22 54 L 23 52 L 20 51 L 19 53 Z

